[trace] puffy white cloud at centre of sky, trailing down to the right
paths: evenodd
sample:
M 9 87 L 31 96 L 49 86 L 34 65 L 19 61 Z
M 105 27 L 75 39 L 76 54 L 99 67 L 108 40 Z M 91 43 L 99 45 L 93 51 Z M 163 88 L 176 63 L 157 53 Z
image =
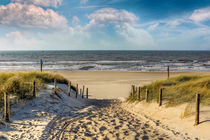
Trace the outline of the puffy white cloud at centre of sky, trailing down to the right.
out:
M 114 8 L 102 8 L 90 14 L 88 18 L 90 23 L 86 26 L 87 29 L 106 28 L 107 25 L 111 24 L 118 36 L 121 37 L 121 41 L 129 44 L 130 49 L 152 47 L 154 45 L 152 36 L 146 30 L 136 28 L 138 17 L 131 12 Z

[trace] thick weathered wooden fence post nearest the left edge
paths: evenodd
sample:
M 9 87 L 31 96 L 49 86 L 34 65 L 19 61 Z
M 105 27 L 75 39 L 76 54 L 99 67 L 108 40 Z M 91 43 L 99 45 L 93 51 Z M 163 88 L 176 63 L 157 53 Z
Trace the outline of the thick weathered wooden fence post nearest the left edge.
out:
M 6 122 L 10 121 L 10 99 L 9 93 L 4 93 L 4 120 Z

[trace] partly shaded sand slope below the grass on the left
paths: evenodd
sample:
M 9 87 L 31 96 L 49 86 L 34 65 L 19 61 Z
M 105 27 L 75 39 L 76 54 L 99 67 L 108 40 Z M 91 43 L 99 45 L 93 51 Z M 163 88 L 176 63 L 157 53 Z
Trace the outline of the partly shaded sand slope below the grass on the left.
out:
M 52 87 L 48 85 L 32 101 L 12 106 L 12 122 L 7 127 L 0 125 L 0 139 L 41 139 L 42 131 L 48 129 L 48 123 L 55 117 L 74 117 L 78 109 L 86 107 L 80 99 L 68 98 L 64 93 L 60 93 L 62 99 L 51 96 Z

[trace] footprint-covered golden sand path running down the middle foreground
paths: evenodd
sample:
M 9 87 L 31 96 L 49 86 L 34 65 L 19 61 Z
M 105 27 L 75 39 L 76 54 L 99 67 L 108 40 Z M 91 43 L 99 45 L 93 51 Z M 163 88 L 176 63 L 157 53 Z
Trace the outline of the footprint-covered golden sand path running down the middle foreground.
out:
M 76 117 L 59 116 L 42 139 L 174 139 L 123 110 L 118 101 L 96 101 Z

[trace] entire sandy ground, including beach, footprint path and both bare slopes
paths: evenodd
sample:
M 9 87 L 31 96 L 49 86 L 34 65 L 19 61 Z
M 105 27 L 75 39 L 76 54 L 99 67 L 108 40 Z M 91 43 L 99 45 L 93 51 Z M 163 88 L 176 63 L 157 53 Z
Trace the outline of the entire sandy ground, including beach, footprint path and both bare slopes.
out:
M 26 72 L 23 72 L 26 73 Z M 38 72 L 32 72 L 32 75 Z M 201 106 L 200 124 L 194 126 L 194 104 L 158 106 L 157 102 L 126 102 L 131 85 L 144 86 L 168 78 L 167 72 L 54 71 L 73 85 L 89 89 L 89 99 L 67 84 L 46 84 L 36 98 L 11 107 L 11 122 L 0 125 L 0 139 L 208 139 L 210 107 Z M 43 74 L 43 72 L 39 73 Z M 178 75 L 209 72 L 170 72 Z M 43 75 L 44 76 L 44 75 Z M 50 76 L 49 76 L 50 77 Z M 80 90 L 79 90 L 80 91 Z

